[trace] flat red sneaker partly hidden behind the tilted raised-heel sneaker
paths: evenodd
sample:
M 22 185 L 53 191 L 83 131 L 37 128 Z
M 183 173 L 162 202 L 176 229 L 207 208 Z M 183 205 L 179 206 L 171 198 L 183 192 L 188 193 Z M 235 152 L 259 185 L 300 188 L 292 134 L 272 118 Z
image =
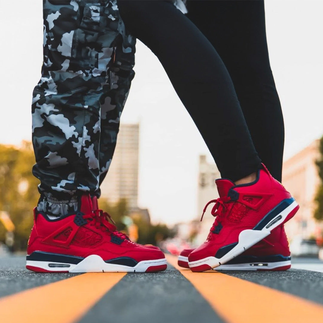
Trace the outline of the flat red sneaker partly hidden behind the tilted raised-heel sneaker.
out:
M 188 266 L 188 256 L 194 249 L 184 249 L 178 256 L 178 266 Z M 290 251 L 284 225 L 241 255 L 218 266 L 215 270 L 287 270 L 291 266 Z

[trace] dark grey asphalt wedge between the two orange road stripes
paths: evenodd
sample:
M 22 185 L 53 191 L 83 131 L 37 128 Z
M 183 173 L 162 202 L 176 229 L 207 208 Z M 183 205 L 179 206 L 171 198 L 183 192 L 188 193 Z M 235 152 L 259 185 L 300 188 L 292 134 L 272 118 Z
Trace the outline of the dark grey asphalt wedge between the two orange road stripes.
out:
M 203 322 L 223 322 L 193 285 L 168 265 L 162 273 L 124 276 L 79 323 L 91 318 L 100 323 L 197 323 L 202 322 L 201 313 Z

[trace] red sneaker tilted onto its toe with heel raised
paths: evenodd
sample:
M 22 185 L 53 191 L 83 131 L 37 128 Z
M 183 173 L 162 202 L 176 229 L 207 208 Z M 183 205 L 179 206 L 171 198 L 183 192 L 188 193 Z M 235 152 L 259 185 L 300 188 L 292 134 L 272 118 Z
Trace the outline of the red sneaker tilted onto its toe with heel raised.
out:
M 235 185 L 216 180 L 219 198 L 211 214 L 216 216 L 207 240 L 190 253 L 192 271 L 205 271 L 223 265 L 240 255 L 272 230 L 290 220 L 299 209 L 295 199 L 277 182 L 266 167 L 255 182 Z

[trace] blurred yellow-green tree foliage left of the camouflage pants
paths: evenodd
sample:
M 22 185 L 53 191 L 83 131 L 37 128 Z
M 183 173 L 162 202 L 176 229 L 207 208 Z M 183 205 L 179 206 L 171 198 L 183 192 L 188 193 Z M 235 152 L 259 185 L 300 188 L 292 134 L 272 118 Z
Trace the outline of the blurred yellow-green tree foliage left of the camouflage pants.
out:
M 14 249 L 25 249 L 33 225 L 33 208 L 39 194 L 39 181 L 31 169 L 35 163 L 30 142 L 18 149 L 0 145 L 0 210 L 7 211 L 16 226 Z M 0 224 L 0 241 L 5 240 L 5 229 Z

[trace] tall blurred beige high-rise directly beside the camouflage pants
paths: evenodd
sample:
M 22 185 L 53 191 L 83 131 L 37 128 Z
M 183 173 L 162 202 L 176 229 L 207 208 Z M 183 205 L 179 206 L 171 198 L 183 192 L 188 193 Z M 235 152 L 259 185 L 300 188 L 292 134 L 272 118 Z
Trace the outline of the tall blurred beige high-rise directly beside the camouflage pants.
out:
M 139 124 L 121 124 L 116 150 L 101 197 L 115 203 L 126 198 L 130 209 L 138 207 Z

